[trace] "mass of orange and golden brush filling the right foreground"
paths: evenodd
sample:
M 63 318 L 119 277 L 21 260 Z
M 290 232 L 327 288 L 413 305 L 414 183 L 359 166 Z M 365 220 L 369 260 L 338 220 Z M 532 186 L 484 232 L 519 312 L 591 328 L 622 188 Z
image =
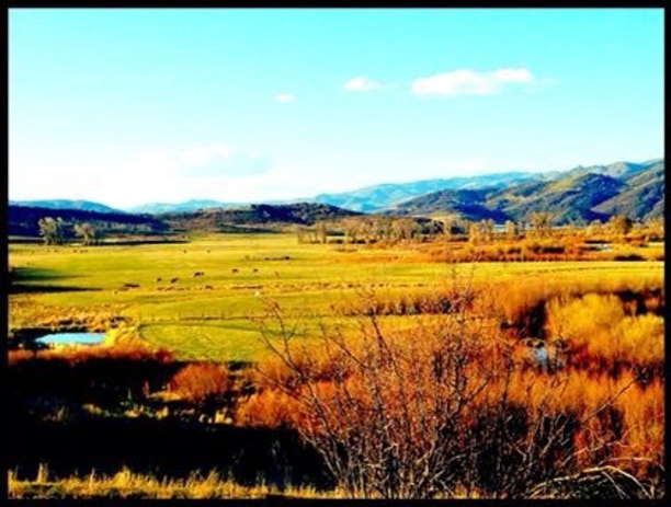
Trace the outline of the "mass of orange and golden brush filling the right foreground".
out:
M 419 481 L 413 460 L 427 453 L 447 462 L 473 456 L 475 461 L 464 466 L 475 466 L 479 458 L 469 440 L 475 435 L 493 446 L 490 458 L 499 464 L 515 466 L 519 456 L 533 463 L 528 475 L 508 473 L 504 491 L 513 496 L 524 494 L 525 483 L 602 466 L 616 466 L 656 484 L 663 463 L 663 389 L 658 368 L 663 365 L 663 320 L 653 313 L 632 313 L 621 291 L 655 300 L 646 302 L 642 311 L 659 311 L 663 293 L 649 290 L 659 287 L 658 281 L 577 279 L 567 285 L 550 279 L 539 285 L 533 280 L 526 291 L 507 288 L 511 296 L 520 296 L 503 303 L 513 314 L 539 306 L 545 331 L 569 343 L 572 361 L 556 371 L 515 362 L 519 343 L 491 325 L 490 312 L 497 309 L 496 298 L 488 298 L 491 292 L 471 292 L 473 304 L 462 306 L 459 313 L 423 315 L 405 329 L 365 307 L 359 341 L 338 329 L 325 329 L 322 346 L 312 346 L 309 353 L 289 342 L 275 345 L 277 358 L 259 366 L 272 381 L 240 403 L 236 419 L 246 425 L 293 426 L 318 447 L 338 442 L 354 456 L 365 456 L 366 462 L 379 459 L 383 468 L 388 466 L 387 458 L 375 454 L 375 446 L 384 449 L 394 442 L 389 452 L 402 463 L 409 484 Z M 585 357 L 596 367 L 584 362 Z M 647 366 L 653 368 L 646 377 L 641 371 Z M 444 420 L 443 414 L 454 406 L 457 412 Z M 492 420 L 509 425 L 510 441 L 497 437 Z M 456 434 L 451 449 L 434 456 L 431 428 L 445 425 L 456 428 Z M 361 465 L 360 473 L 367 473 L 368 465 Z M 457 485 L 470 483 L 484 496 L 494 494 L 497 480 L 488 475 L 488 465 L 485 471 L 477 466 L 443 487 L 456 491 Z M 351 494 L 356 488 L 346 487 Z M 367 485 L 364 496 L 418 494 L 412 486 L 398 492 L 384 487 Z

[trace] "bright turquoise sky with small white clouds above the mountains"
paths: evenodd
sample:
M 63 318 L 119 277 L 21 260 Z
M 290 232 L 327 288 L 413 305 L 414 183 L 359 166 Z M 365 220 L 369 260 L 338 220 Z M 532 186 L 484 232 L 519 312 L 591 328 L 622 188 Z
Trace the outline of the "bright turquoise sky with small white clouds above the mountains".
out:
M 308 198 L 663 158 L 662 9 L 10 9 L 9 197 Z

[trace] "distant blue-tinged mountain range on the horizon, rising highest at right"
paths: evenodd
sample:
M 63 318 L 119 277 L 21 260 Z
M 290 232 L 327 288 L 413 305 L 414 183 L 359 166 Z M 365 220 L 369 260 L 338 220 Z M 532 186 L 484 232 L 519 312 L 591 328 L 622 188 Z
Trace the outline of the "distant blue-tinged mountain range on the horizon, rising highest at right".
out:
M 664 160 L 615 162 L 545 173 L 507 172 L 385 183 L 352 192 L 319 194 L 300 201 L 362 212 L 413 216 L 458 214 L 470 220 L 491 218 L 496 222 L 525 220 L 534 211 L 550 211 L 556 223 L 607 220 L 612 215 L 647 219 L 663 216 Z M 153 203 L 125 211 L 99 203 L 65 199 L 10 201 L 10 206 L 150 214 L 157 217 L 213 208 L 249 209 L 249 206 L 242 204 L 217 200 Z

